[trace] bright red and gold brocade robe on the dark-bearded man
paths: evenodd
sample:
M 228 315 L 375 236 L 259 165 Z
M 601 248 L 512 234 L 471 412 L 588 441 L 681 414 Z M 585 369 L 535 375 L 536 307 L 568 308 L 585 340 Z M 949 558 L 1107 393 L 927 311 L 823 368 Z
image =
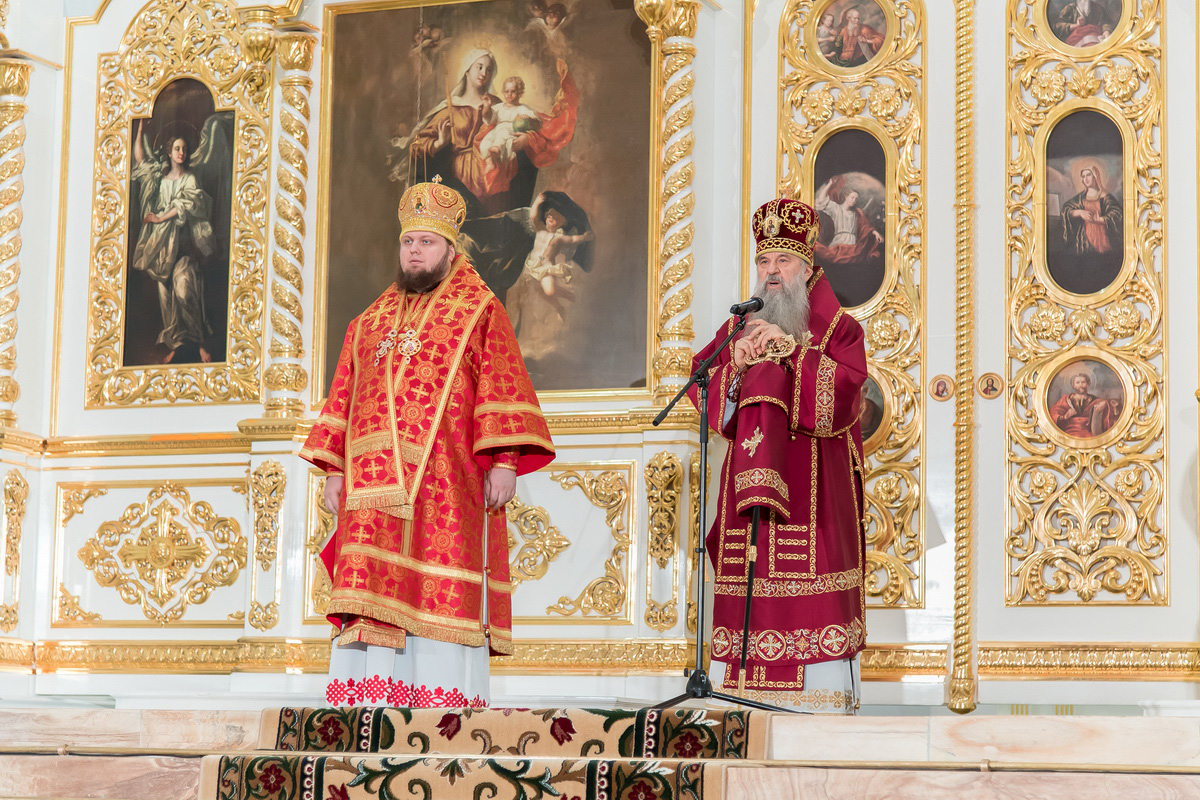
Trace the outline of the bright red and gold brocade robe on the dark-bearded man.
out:
M 409 329 L 420 349 L 406 355 Z M 350 323 L 300 456 L 346 476 L 322 553 L 340 642 L 398 648 L 408 632 L 512 651 L 506 522 L 485 510 L 484 479 L 554 451 L 508 314 L 464 257 L 434 290 L 392 285 Z

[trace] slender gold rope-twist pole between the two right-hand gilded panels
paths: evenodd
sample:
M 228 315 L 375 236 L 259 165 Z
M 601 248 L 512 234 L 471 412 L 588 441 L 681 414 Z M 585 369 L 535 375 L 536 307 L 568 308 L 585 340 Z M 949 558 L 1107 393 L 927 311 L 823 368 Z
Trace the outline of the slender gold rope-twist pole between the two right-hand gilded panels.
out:
M 974 634 L 974 0 L 954 0 L 954 644 L 947 705 L 976 708 Z

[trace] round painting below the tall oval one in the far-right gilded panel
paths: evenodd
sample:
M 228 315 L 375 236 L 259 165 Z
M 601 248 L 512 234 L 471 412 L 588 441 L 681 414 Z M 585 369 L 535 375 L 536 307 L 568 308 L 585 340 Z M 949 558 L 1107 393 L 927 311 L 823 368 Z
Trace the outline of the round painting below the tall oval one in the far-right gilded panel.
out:
M 1126 387 L 1116 371 L 1099 359 L 1063 365 L 1046 387 L 1051 425 L 1076 440 L 1094 440 L 1117 425 L 1126 407 Z

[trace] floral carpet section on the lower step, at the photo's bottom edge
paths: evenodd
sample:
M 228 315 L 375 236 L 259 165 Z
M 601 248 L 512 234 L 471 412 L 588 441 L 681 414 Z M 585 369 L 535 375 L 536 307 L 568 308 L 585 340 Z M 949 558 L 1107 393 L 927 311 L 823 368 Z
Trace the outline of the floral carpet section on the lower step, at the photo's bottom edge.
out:
M 721 762 L 206 756 L 199 800 L 721 800 Z

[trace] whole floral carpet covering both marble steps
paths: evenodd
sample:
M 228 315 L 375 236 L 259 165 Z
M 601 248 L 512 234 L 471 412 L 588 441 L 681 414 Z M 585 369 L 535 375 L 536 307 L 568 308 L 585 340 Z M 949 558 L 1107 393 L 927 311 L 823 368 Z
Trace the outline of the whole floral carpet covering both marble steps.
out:
M 259 752 L 208 756 L 199 800 L 720 800 L 762 759 L 762 711 L 263 711 Z

